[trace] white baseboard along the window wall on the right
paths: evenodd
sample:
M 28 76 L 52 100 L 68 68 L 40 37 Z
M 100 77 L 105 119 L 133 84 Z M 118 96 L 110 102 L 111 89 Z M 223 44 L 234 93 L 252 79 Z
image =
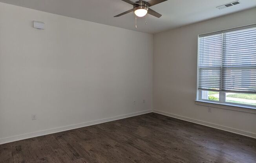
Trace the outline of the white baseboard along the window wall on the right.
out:
M 199 125 L 204 125 L 204 126 L 207 126 L 207 127 L 212 127 L 212 128 L 215 128 L 215 129 L 224 130 L 224 131 L 228 131 L 228 132 L 232 132 L 232 133 L 235 133 L 235 134 L 240 134 L 240 135 L 243 135 L 243 136 L 248 136 L 248 137 L 256 139 L 256 134 L 252 133 L 252 132 L 238 130 L 238 129 L 234 129 L 234 128 L 226 127 L 226 126 L 222 126 L 222 125 L 217 125 L 217 124 L 209 123 L 209 122 L 206 122 L 206 121 L 196 120 L 196 119 L 188 118 L 188 117 L 185 117 L 185 116 L 179 116 L 179 115 L 176 115 L 176 114 L 171 114 L 171 113 L 163 112 L 163 111 L 160 111 L 160 110 L 153 110 L 153 112 L 158 113 L 158 114 L 162 114 L 162 115 L 165 115 L 165 116 L 169 116 L 169 117 L 172 117 L 172 118 L 176 118 L 176 119 L 179 119 L 179 120 L 189 121 L 189 122 L 196 123 L 196 124 L 199 124 Z

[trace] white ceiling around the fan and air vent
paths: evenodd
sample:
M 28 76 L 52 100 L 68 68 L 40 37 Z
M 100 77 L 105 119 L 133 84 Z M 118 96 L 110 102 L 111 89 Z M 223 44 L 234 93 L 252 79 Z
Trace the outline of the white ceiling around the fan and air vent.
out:
M 132 1 L 135 2 L 136 0 Z M 222 10 L 216 8 L 219 5 L 233 1 L 234 0 L 168 0 L 150 7 L 162 14 L 163 16 L 161 18 L 148 15 L 147 25 L 145 25 L 144 22 L 145 18 L 138 18 L 137 29 L 135 29 L 134 13 L 129 13 L 117 18 L 113 17 L 132 9 L 132 5 L 122 0 L 0 0 L 0 2 L 7 4 L 19 5 L 48 13 L 145 33 L 158 33 L 182 25 L 256 7 L 256 0 L 240 0 L 241 4 Z

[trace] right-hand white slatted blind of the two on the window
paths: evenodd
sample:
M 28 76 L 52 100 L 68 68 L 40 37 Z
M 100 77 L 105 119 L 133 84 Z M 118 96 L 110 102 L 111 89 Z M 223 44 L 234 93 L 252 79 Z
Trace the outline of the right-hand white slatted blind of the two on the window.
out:
M 256 91 L 256 28 L 232 31 L 223 36 L 222 89 Z

